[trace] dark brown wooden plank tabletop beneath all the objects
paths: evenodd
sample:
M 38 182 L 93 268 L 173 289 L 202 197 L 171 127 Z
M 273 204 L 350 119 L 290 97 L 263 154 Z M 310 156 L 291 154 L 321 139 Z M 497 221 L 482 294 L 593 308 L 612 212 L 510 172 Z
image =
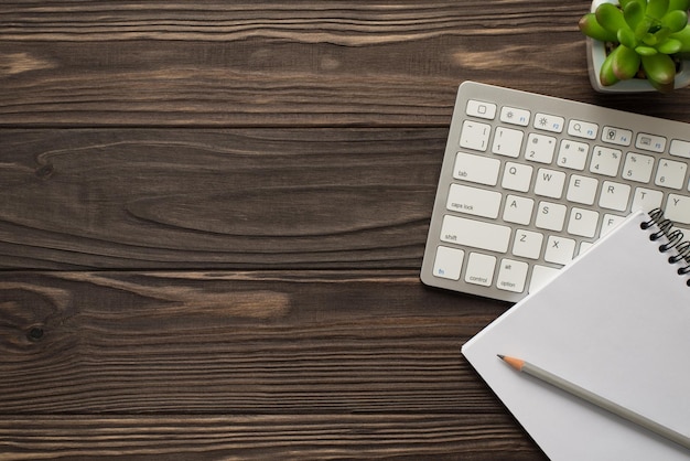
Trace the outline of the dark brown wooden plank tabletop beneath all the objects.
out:
M 0 459 L 543 459 L 419 268 L 457 85 L 604 97 L 587 1 L 0 6 Z

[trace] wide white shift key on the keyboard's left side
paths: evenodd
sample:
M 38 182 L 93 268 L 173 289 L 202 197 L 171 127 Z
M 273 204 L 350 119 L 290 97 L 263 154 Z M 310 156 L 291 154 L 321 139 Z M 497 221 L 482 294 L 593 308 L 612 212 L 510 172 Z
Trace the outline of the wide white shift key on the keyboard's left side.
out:
M 445 215 L 441 226 L 441 240 L 489 251 L 506 253 L 510 240 L 510 227 Z

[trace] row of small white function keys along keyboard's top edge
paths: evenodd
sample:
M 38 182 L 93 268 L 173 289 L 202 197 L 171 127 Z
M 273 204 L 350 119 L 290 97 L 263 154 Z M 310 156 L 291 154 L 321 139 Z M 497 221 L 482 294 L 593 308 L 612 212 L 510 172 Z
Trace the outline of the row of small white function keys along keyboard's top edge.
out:
M 466 115 L 485 120 L 494 120 L 498 114 L 498 106 L 493 103 L 471 99 L 467 101 Z M 499 120 L 504 124 L 518 127 L 528 127 L 532 114 L 530 110 L 517 107 L 504 106 L 500 109 Z M 538 130 L 561 133 L 567 128 L 568 136 L 595 140 L 600 136 L 600 126 L 586 120 L 570 120 L 565 127 L 563 117 L 537 112 L 533 117 L 532 127 Z M 628 147 L 635 141 L 635 148 L 648 152 L 662 153 L 666 151 L 668 140 L 662 136 L 640 132 L 637 137 L 633 131 L 605 126 L 601 129 L 601 140 L 603 142 Z M 669 153 L 675 157 L 690 159 L 690 142 L 673 139 L 669 146 Z

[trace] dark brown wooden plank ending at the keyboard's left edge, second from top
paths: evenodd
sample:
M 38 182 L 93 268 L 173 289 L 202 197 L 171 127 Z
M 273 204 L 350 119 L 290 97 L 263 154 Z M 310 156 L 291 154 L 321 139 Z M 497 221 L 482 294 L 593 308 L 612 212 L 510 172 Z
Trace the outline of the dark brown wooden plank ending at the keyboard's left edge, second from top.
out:
M 4 130 L 0 267 L 418 268 L 446 132 Z

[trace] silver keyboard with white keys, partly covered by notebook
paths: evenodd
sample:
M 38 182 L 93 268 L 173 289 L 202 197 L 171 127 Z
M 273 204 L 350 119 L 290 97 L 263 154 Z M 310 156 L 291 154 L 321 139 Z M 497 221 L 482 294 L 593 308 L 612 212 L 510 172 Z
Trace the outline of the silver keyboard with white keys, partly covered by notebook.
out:
M 421 279 L 515 302 L 635 210 L 690 235 L 689 167 L 689 124 L 465 82 Z

